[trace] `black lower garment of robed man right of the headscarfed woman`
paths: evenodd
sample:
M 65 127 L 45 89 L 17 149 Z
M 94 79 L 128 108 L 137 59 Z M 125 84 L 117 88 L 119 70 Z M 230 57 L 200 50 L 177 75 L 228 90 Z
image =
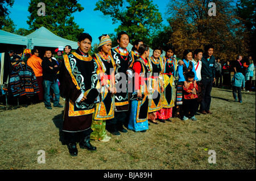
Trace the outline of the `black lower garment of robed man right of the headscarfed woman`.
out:
M 111 120 L 106 121 L 106 129 L 109 132 L 115 132 L 123 129 L 123 124 L 125 124 L 127 111 L 115 111 L 115 117 Z

